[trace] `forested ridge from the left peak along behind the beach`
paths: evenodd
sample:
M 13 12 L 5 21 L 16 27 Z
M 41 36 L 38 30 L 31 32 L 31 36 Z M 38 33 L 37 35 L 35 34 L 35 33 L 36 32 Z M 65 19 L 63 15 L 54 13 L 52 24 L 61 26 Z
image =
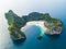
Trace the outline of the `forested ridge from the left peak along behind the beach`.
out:
M 12 10 L 6 13 L 6 19 L 8 20 L 9 25 L 14 24 L 18 28 L 23 27 L 29 21 L 41 21 L 46 17 L 51 17 L 48 13 L 37 13 L 32 12 L 29 15 L 23 15 L 22 17 L 18 16 Z

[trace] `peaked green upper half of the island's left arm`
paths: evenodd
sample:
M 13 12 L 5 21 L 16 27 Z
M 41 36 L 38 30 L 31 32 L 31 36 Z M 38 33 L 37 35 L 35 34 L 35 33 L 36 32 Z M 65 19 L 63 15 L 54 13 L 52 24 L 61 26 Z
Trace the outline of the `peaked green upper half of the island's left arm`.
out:
M 13 13 L 11 10 L 6 13 L 6 19 L 8 20 L 9 25 L 13 24 L 18 28 L 21 28 L 24 25 L 24 20 Z

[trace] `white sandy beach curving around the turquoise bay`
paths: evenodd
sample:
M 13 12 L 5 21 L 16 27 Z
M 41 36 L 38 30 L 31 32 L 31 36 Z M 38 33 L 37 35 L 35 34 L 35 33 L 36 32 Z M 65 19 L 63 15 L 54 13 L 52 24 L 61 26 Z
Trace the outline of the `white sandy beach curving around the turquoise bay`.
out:
M 31 22 L 28 22 L 26 25 L 21 28 L 21 30 L 23 30 L 23 32 L 26 30 L 26 28 L 30 27 L 31 25 L 40 26 L 41 29 L 42 29 L 41 35 L 44 35 L 44 32 L 47 30 L 47 28 L 44 25 L 44 21 L 31 21 Z

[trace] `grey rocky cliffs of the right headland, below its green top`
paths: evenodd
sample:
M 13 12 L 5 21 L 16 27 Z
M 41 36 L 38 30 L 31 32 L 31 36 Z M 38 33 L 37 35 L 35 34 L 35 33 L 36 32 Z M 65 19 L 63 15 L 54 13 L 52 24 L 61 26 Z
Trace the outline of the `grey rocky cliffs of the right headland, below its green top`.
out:
M 45 32 L 45 34 L 47 35 L 59 35 L 63 30 L 63 23 L 61 21 L 57 23 L 56 26 L 54 26 L 54 23 L 47 22 L 45 22 L 44 25 L 47 28 L 47 30 Z M 50 29 L 50 26 L 53 27 Z

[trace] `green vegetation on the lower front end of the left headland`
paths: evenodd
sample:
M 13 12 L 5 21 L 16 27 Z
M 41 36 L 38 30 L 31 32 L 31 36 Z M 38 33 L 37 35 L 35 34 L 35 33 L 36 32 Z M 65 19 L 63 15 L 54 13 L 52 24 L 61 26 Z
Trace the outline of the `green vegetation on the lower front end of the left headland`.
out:
M 15 27 L 14 25 L 10 25 L 8 27 L 8 29 L 10 30 L 10 35 L 14 36 L 15 38 L 19 38 L 18 34 L 20 34 L 22 37 L 25 37 L 24 33 L 21 32 L 18 27 Z M 18 34 L 15 34 L 15 32 L 18 32 Z

